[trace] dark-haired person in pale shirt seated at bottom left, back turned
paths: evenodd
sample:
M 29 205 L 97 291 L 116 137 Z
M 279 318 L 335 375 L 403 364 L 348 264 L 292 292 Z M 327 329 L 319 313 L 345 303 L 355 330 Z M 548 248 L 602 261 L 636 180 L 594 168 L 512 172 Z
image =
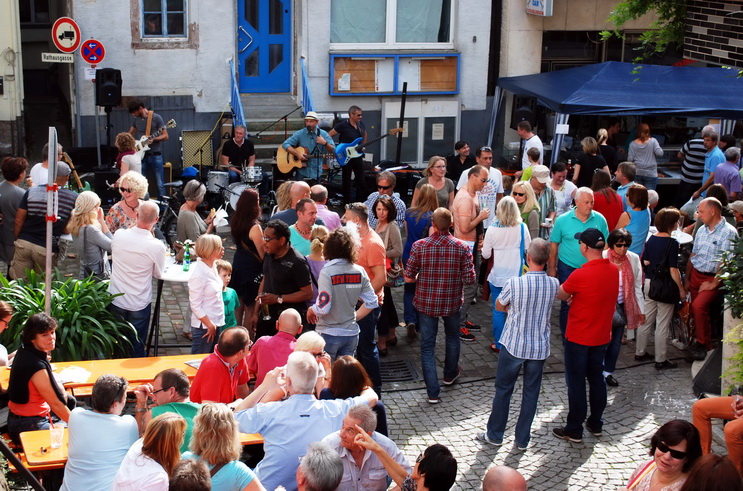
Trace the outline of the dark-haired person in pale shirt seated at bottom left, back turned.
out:
M 128 386 L 124 378 L 110 373 L 101 375 L 93 385 L 93 410 L 72 410 L 60 491 L 111 489 L 121 461 L 139 438 L 134 418 L 121 416 Z

